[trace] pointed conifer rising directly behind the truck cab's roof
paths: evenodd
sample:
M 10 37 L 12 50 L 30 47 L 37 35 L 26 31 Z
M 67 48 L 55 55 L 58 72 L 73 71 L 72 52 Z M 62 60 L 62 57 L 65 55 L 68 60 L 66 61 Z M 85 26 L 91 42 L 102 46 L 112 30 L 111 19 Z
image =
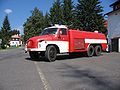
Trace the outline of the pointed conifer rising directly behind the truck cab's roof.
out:
M 62 6 L 60 0 L 55 0 L 53 6 L 50 8 L 50 21 L 52 24 L 61 24 L 62 23 Z

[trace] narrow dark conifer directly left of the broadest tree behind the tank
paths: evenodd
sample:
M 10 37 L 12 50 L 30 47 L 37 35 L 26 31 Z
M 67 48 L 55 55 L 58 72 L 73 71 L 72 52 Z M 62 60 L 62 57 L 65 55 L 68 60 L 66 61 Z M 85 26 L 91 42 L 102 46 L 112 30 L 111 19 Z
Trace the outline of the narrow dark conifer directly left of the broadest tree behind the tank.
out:
M 63 24 L 70 27 L 73 26 L 74 22 L 74 6 L 72 0 L 63 0 Z

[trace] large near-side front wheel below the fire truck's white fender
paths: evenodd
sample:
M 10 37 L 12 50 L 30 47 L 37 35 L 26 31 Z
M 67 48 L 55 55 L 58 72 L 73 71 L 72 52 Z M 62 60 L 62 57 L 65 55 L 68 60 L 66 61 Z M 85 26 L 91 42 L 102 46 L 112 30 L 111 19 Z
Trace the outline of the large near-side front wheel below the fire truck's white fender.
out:
M 55 61 L 57 56 L 57 50 L 56 48 L 51 45 L 47 47 L 47 50 L 45 52 L 45 58 L 49 61 L 49 62 L 53 62 Z

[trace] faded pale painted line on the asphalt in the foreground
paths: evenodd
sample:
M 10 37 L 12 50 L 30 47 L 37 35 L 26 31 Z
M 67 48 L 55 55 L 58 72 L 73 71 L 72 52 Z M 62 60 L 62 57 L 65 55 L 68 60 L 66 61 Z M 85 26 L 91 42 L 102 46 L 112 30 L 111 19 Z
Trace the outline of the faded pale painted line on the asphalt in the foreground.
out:
M 40 69 L 40 67 L 38 66 L 37 62 L 34 62 L 35 63 L 35 66 L 37 68 L 37 71 L 39 73 L 39 76 L 40 76 L 40 79 L 44 85 L 44 89 L 45 90 L 51 90 L 51 87 L 49 85 L 49 83 L 47 82 L 46 78 L 45 78 L 45 75 L 43 74 L 42 70 Z

